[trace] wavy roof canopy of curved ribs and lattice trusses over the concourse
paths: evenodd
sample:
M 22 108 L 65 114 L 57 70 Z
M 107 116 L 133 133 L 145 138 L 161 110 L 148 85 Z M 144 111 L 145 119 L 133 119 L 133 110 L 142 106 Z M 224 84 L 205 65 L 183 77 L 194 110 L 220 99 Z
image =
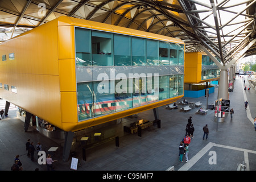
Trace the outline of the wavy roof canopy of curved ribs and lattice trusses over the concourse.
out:
M 0 1 L 0 43 L 64 15 L 181 39 L 186 52 L 201 52 L 201 44 L 225 64 L 255 38 L 255 2 L 5 0 Z M 255 48 L 254 43 L 244 56 L 255 55 Z

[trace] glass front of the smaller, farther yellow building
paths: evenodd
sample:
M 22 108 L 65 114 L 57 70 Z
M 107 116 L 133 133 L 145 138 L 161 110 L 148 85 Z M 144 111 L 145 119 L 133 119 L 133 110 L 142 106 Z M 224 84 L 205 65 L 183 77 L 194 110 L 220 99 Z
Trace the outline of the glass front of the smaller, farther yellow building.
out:
M 220 77 L 220 69 L 209 56 L 202 55 L 202 80 Z

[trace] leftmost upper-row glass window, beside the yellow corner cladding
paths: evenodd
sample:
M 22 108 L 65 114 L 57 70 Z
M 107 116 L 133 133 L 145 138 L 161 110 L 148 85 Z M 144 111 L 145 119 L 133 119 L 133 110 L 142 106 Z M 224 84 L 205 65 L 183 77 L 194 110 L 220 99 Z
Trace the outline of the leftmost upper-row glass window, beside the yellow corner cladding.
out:
M 76 35 L 76 66 L 88 67 L 92 65 L 90 59 L 90 30 L 85 28 L 75 29 Z

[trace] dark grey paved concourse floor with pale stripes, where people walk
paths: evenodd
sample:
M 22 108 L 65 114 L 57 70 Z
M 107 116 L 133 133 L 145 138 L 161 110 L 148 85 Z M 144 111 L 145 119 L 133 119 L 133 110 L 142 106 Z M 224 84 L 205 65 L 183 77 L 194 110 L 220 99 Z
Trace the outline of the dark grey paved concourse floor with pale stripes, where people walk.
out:
M 249 82 L 246 81 L 247 87 Z M 210 94 L 208 104 L 217 99 L 218 87 L 215 93 Z M 243 90 L 241 78 L 236 79 L 234 91 L 230 92 L 230 107 L 234 109 L 233 119 L 228 114 L 225 122 L 218 123 L 214 119 L 214 111 L 209 110 L 207 115 L 195 114 L 196 109 L 187 113 L 159 107 L 161 128 L 157 126 L 142 131 L 142 137 L 137 134 L 123 133 L 122 124 L 128 120 L 154 120 L 152 110 L 138 114 L 138 118 L 125 118 L 113 127 L 114 132 L 120 135 L 119 147 L 115 141 L 100 144 L 86 150 L 86 161 L 82 160 L 82 149 L 78 148 L 77 156 L 81 166 L 78 171 L 166 171 L 174 166 L 175 170 L 189 171 L 236 171 L 238 163 L 246 163 L 246 170 L 256 170 L 256 131 L 253 118 L 256 116 L 255 90 Z M 190 102 L 200 101 L 206 108 L 206 97 L 186 98 Z M 245 110 L 243 102 L 249 101 Z M 3 102 L 3 100 L 1 100 Z M 180 105 L 179 105 L 180 107 Z M 4 105 L 0 104 L 0 109 Z M 189 144 L 189 162 L 179 162 L 178 146 L 185 135 L 185 126 L 189 116 L 195 125 L 195 138 Z M 203 140 L 203 126 L 208 124 L 209 137 Z M 40 134 L 34 127 L 28 132 L 23 131 L 24 123 L 16 118 L 15 107 L 9 111 L 9 117 L 0 120 L 0 170 L 10 171 L 15 155 L 20 155 L 24 171 L 46 171 L 46 166 L 32 162 L 26 156 L 25 143 L 30 138 L 34 143 L 40 141 L 44 148 L 59 146 L 56 140 Z M 217 128 L 218 126 L 218 128 Z M 68 162 L 61 160 L 61 155 L 53 159 L 56 171 L 69 171 L 71 159 Z

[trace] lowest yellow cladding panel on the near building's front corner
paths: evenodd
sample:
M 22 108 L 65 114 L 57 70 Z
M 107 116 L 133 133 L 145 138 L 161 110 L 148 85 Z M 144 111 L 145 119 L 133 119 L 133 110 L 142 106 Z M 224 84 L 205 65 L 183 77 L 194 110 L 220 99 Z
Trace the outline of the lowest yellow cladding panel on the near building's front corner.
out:
M 62 123 L 74 123 L 77 125 L 77 101 L 76 92 L 60 92 L 61 95 L 61 119 Z

